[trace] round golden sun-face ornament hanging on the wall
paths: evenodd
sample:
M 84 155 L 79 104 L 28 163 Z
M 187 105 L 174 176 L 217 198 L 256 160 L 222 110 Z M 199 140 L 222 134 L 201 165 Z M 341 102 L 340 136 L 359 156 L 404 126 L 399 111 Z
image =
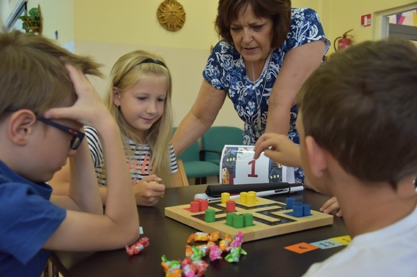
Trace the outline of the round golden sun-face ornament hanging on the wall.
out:
M 185 10 L 176 0 L 165 0 L 158 7 L 157 17 L 164 29 L 175 32 L 185 23 Z

